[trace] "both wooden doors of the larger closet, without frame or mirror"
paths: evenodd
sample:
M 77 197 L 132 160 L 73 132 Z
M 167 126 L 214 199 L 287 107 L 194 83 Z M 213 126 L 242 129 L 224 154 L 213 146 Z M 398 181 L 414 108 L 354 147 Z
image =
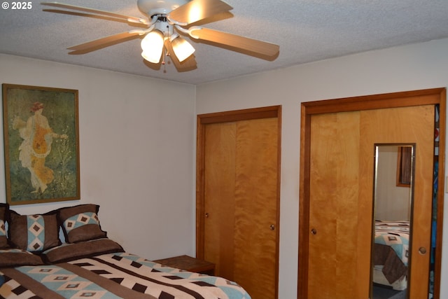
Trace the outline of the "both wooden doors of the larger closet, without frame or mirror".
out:
M 409 299 L 428 297 L 434 105 L 311 116 L 308 299 L 367 299 L 374 144 L 415 143 Z

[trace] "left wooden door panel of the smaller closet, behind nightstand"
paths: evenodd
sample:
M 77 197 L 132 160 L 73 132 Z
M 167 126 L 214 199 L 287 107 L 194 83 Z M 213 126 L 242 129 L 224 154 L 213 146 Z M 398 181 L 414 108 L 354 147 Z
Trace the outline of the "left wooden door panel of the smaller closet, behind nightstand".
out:
M 205 128 L 204 258 L 216 263 L 216 275 L 235 280 L 235 149 L 236 123 Z

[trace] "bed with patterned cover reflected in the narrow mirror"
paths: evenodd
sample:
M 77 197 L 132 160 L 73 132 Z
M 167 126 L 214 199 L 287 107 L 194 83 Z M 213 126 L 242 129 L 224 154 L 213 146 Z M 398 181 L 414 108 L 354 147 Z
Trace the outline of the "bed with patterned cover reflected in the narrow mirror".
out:
M 405 290 L 408 257 L 409 221 L 375 221 L 374 283 Z

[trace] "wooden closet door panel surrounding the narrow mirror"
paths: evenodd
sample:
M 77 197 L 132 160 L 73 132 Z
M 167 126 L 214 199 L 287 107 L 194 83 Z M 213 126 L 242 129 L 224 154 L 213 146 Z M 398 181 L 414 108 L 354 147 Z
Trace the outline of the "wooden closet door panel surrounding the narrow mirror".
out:
M 415 143 L 414 210 L 409 299 L 428 297 L 430 229 L 433 202 L 434 105 L 361 112 L 363 165 L 373 172 L 375 143 Z M 373 182 L 372 182 L 373 183 Z M 372 190 L 372 189 L 371 189 Z M 370 197 L 365 195 L 364 197 Z M 419 248 L 427 253 L 422 255 Z

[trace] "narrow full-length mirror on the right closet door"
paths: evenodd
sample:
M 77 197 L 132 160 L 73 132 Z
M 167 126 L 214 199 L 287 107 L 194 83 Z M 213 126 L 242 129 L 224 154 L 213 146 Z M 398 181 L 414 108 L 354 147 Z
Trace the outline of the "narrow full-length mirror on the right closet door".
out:
M 408 298 L 414 152 L 414 144 L 375 145 L 373 299 Z

